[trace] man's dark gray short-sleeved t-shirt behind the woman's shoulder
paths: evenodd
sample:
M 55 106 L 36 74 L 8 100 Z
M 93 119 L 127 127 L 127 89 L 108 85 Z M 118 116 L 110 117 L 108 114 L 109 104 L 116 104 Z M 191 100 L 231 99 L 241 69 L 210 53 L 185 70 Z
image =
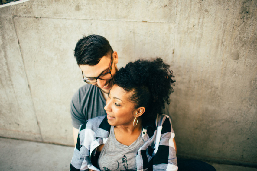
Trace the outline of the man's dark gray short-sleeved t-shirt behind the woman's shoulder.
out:
M 73 95 L 70 103 L 72 125 L 79 128 L 86 120 L 96 116 L 107 115 L 104 110 L 106 100 L 101 90 L 92 85 L 85 84 Z

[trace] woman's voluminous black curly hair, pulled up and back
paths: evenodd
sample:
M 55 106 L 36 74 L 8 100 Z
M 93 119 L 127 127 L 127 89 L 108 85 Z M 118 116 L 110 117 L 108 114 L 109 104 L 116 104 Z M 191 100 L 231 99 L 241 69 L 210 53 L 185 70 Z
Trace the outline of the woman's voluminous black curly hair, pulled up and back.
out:
M 171 85 L 176 81 L 172 80 L 174 76 L 169 67 L 161 58 L 137 60 L 129 62 L 115 74 L 114 84 L 126 92 L 132 91 L 129 100 L 135 108 L 145 107 L 142 122 L 155 120 L 164 103 L 169 104 L 169 95 L 174 91 Z

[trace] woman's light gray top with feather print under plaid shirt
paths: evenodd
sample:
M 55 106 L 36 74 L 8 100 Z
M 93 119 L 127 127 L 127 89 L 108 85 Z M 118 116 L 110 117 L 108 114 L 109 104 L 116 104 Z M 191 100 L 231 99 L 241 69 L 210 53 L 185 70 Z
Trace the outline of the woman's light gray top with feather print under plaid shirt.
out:
M 104 144 L 98 159 L 101 170 L 129 170 L 136 171 L 136 156 L 139 148 L 144 144 L 141 134 L 129 146 L 121 144 L 116 140 L 114 126 L 111 126 L 108 140 Z

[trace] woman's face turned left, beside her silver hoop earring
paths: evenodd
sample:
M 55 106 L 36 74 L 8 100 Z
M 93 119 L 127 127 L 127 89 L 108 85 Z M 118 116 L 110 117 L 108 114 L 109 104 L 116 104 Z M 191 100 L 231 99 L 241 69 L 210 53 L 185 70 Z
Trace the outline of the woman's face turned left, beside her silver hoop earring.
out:
M 112 126 L 133 125 L 136 109 L 129 101 L 132 92 L 126 92 L 122 87 L 113 85 L 104 109 L 107 112 L 108 123 Z

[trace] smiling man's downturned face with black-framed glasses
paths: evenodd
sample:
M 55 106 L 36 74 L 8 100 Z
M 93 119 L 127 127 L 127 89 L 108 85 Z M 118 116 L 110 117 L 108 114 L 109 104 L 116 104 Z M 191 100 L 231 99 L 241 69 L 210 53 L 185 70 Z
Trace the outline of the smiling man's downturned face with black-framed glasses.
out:
M 117 71 L 116 64 L 118 63 L 118 55 L 116 51 L 113 52 L 112 58 L 113 58 L 112 71 L 111 71 L 112 77 L 106 80 L 97 79 L 97 82 L 92 84 L 99 87 L 104 93 L 109 93 L 113 86 L 113 76 Z M 102 59 L 99 61 L 99 63 L 94 66 L 80 65 L 80 68 L 83 71 L 84 77 L 95 78 L 101 74 L 108 72 L 110 65 L 111 65 L 111 53 L 109 53 L 106 56 L 103 56 Z

